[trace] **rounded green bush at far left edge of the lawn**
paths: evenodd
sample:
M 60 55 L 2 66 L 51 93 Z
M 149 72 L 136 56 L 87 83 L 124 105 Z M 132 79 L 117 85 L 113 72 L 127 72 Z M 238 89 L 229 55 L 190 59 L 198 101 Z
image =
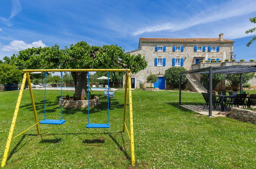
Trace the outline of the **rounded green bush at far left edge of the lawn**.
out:
M 18 84 L 22 79 L 23 72 L 18 70 L 15 66 L 9 64 L 0 65 L 0 84 L 6 85 L 8 83 Z

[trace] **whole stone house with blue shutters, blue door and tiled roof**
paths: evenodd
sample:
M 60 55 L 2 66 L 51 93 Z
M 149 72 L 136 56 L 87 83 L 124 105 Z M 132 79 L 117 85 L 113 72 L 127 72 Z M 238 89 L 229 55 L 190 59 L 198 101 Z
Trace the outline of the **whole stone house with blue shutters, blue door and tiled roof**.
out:
M 132 88 L 140 88 L 140 82 L 149 87 L 147 76 L 152 73 L 159 77 L 154 87 L 166 89 L 164 74 L 167 69 L 183 67 L 191 70 L 192 65 L 200 62 L 231 60 L 233 43 L 224 39 L 223 33 L 219 38 L 140 38 L 139 49 L 127 53 L 145 56 L 148 66 L 132 75 Z

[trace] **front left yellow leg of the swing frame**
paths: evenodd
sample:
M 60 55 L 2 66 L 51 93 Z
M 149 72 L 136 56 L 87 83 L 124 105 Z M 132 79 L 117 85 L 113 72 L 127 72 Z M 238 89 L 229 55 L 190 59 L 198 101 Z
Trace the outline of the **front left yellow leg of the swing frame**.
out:
M 17 119 L 17 116 L 18 116 L 19 105 L 21 105 L 22 95 L 23 95 L 23 91 L 24 91 L 24 87 L 25 87 L 25 83 L 26 83 L 26 78 L 27 78 L 27 74 L 24 73 L 21 90 L 19 90 L 18 100 L 16 102 L 16 107 L 15 107 L 15 111 L 14 111 L 13 118 L 12 118 L 11 128 L 10 128 L 7 143 L 6 143 L 6 146 L 5 146 L 5 152 L 4 152 L 3 160 L 2 160 L 2 163 L 1 163 L 2 167 L 4 167 L 5 164 L 6 164 L 6 160 L 7 160 L 7 157 L 8 157 L 9 150 L 10 150 L 12 135 L 13 135 L 13 131 L 14 131 L 14 128 L 15 128 L 16 119 Z

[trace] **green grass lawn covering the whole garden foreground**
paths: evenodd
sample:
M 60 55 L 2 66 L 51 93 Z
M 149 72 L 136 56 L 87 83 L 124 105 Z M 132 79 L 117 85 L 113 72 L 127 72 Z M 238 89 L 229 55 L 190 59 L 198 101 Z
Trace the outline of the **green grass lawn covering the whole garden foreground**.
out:
M 34 90 L 37 114 L 44 112 L 44 91 Z M 47 91 L 47 117 L 60 118 L 60 91 Z M 64 91 L 64 96 L 73 91 Z M 91 123 L 107 122 L 107 102 L 91 109 Z M 4 153 L 18 91 L 0 92 L 0 155 Z M 181 108 L 178 91 L 132 91 L 135 160 L 139 168 L 253 168 L 255 125 L 227 117 L 210 118 Z M 200 93 L 183 92 L 183 103 L 203 104 Z M 124 90 L 115 92 L 110 129 L 86 129 L 87 109 L 64 109 L 63 125 L 41 124 L 12 141 L 9 168 L 129 168 L 129 139 L 122 131 Z M 14 136 L 34 124 L 25 90 Z

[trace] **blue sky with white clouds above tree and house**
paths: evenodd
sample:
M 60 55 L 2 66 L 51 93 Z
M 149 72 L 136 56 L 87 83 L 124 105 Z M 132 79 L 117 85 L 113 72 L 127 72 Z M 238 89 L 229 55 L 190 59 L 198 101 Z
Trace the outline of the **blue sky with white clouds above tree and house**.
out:
M 31 1 L 0 0 L 0 59 L 30 47 L 87 41 L 138 48 L 140 37 L 218 37 L 236 41 L 237 59 L 256 60 L 256 1 Z M 248 37 L 249 36 L 249 37 Z

